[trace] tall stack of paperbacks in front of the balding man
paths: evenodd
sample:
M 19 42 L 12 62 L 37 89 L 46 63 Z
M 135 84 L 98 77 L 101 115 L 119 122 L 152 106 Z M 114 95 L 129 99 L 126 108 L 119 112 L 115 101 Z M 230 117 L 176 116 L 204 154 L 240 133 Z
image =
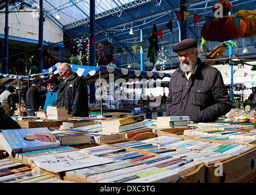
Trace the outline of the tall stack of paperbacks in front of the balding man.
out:
M 48 119 L 57 121 L 68 120 L 68 110 L 66 110 L 65 107 L 60 107 L 57 105 L 48 105 L 46 112 Z

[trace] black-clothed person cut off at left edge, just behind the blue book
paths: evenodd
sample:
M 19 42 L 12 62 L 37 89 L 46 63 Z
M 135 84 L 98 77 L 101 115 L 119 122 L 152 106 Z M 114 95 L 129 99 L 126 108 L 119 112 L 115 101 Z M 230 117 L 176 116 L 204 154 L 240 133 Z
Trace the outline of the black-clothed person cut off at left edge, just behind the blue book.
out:
M 7 115 L 3 107 L 0 107 L 0 121 L 0 131 L 1 129 L 21 129 L 20 124 Z

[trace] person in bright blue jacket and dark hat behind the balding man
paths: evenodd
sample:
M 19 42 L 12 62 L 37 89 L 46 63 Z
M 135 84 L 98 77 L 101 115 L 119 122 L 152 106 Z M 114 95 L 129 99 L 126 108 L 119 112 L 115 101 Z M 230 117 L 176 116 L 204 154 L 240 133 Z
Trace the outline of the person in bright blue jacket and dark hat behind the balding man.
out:
M 51 77 L 47 80 L 47 88 L 49 89 L 46 94 L 43 112 L 46 112 L 48 105 L 55 105 L 57 94 L 59 92 L 60 82 L 56 77 Z

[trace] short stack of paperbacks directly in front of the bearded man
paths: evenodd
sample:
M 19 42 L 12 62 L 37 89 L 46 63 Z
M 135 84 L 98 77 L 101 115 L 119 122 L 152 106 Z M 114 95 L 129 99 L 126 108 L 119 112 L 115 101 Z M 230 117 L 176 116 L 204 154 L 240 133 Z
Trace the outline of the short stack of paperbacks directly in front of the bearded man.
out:
M 188 126 L 189 116 L 157 116 L 157 127 Z

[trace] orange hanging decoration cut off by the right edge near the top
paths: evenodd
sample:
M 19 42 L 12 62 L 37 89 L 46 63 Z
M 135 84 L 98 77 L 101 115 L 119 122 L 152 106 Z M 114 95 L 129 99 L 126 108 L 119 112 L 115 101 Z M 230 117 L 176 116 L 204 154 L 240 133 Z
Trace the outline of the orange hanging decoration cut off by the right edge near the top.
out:
M 235 17 L 242 16 L 241 20 L 243 20 L 246 23 L 246 32 L 244 33 L 244 36 L 241 38 L 249 38 L 254 37 L 256 35 L 256 18 L 247 17 L 247 15 L 254 14 L 256 14 L 256 12 L 252 10 L 239 10 L 233 15 Z

